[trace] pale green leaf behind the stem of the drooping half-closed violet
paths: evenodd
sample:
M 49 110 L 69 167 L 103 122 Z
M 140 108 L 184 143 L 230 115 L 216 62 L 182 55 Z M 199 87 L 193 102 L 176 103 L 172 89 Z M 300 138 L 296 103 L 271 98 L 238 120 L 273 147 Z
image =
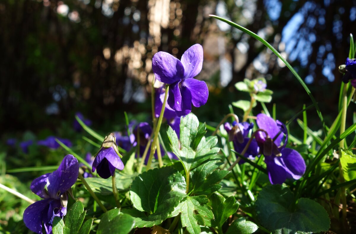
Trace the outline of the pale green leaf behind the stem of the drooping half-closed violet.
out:
M 137 176 L 134 175 L 123 175 L 121 173 L 116 174 L 116 187 L 117 190 L 122 191 L 128 189 L 133 181 L 133 179 Z M 85 178 L 90 188 L 94 193 L 100 193 L 101 195 L 110 195 L 112 194 L 112 181 L 111 178 L 103 179 L 98 177 L 88 177 Z M 83 188 L 84 189 L 84 188 Z

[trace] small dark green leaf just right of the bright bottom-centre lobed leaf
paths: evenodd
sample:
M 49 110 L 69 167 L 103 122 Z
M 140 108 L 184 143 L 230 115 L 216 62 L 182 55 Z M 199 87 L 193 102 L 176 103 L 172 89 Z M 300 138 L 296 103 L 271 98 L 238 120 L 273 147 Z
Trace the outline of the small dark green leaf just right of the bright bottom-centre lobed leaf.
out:
M 239 203 L 236 203 L 234 196 L 225 199 L 219 193 L 213 193 L 213 195 L 211 195 L 208 205 L 213 208 L 215 217 L 211 224 L 213 227 L 218 228 L 221 228 L 227 218 L 229 218 L 230 215 L 235 214 L 237 209 L 239 209 Z

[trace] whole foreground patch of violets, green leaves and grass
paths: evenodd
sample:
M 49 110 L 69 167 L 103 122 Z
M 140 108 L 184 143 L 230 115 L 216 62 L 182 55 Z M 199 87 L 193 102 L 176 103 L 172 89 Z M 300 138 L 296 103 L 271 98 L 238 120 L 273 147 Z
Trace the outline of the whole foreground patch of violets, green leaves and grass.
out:
M 203 50 L 209 48 L 192 45 L 180 59 L 157 52 L 152 59 L 152 123 L 138 123 L 125 113 L 124 130 L 104 136 L 78 113 L 74 129 L 85 130 L 81 141 L 91 144 L 92 154 L 82 154 L 69 140 L 56 137 L 19 144 L 23 152 L 38 145 L 64 151 L 58 151 L 59 166 L 19 168 L 51 171 L 33 178 L 33 194 L 0 184 L 25 204 L 26 227 L 10 223 L 7 228 L 123 234 L 355 230 L 348 208 L 355 200 L 356 123 L 346 126 L 356 87 L 352 35 L 349 58 L 339 67 L 343 82 L 336 118 L 328 126 L 307 85 L 276 49 L 234 22 L 211 17 L 266 45 L 294 74 L 311 105 L 288 120 L 279 119 L 275 106 L 268 110 L 265 105 L 273 94 L 266 79 L 245 79 L 236 83 L 236 92 L 247 93 L 250 100 L 222 103 L 231 111 L 217 126 L 201 123 L 192 106 L 204 105 L 209 90 L 194 77 L 201 72 Z M 262 113 L 254 111 L 257 104 Z M 244 114 L 236 115 L 237 109 Z M 322 123 L 320 132 L 308 126 L 312 111 Z M 293 135 L 295 128 L 302 129 L 303 138 Z M 7 143 L 17 147 L 14 139 Z

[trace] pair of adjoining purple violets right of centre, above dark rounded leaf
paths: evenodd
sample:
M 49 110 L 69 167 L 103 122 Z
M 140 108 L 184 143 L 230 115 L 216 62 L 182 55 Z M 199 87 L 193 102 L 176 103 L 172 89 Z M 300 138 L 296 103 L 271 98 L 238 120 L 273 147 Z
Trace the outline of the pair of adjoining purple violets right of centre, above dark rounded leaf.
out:
M 272 184 L 282 184 L 289 178 L 298 180 L 302 177 L 305 172 L 305 162 L 298 151 L 286 147 L 288 140 L 286 126 L 266 114 L 258 114 L 256 122 L 258 129 L 251 135 L 252 139 L 248 137 L 253 128 L 252 123 L 234 122 L 232 126 L 225 123 L 224 128 L 235 150 L 243 152 L 247 147 L 243 156 L 249 159 L 263 154 L 269 181 Z

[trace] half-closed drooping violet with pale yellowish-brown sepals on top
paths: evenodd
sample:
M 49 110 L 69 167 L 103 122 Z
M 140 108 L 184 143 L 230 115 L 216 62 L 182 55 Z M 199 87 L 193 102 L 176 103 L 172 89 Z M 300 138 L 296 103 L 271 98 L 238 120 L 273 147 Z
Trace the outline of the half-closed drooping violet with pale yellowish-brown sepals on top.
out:
M 115 169 L 123 170 L 124 163 L 116 146 L 116 137 L 110 133 L 105 137 L 99 152 L 95 155 L 92 172 L 96 170 L 101 178 L 107 179 L 113 176 Z

